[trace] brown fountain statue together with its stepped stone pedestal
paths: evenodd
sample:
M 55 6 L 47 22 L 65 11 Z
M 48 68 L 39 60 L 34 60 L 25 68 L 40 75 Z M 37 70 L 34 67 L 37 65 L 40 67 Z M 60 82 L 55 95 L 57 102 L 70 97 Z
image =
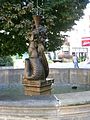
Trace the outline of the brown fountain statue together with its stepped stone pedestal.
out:
M 22 2 L 23 7 L 30 7 L 33 3 L 29 3 L 27 0 Z M 33 5 L 32 5 L 33 6 Z M 33 8 L 32 8 L 33 9 Z M 51 84 L 53 79 L 46 80 L 49 74 L 49 66 L 44 54 L 44 45 L 47 38 L 47 30 L 41 25 L 42 15 L 40 7 L 37 6 L 36 11 L 32 14 L 33 28 L 32 31 L 27 33 L 29 47 L 29 58 L 25 60 L 25 70 L 23 84 L 26 95 L 40 95 L 50 94 Z

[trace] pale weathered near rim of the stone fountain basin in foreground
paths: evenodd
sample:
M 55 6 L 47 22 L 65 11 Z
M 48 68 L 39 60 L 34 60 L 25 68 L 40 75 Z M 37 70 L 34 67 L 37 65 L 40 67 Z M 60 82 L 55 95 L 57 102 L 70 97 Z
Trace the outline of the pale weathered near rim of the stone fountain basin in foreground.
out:
M 85 98 L 82 100 L 84 95 Z M 29 100 L 0 101 L 0 119 L 90 120 L 90 96 L 88 95 L 90 91 L 53 96 L 31 96 Z

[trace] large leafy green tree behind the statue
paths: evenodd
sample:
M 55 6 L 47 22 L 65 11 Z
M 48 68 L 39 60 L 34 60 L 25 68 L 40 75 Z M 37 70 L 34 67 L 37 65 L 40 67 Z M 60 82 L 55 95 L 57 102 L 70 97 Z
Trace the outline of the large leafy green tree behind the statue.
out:
M 67 31 L 83 15 L 88 0 L 0 0 L 0 55 L 22 54 L 28 50 L 27 34 L 32 30 L 32 15 L 41 12 L 42 24 L 47 27 L 47 50 L 57 50 L 63 44 Z M 42 2 L 43 1 L 43 2 Z M 33 4 L 32 4 L 33 2 Z

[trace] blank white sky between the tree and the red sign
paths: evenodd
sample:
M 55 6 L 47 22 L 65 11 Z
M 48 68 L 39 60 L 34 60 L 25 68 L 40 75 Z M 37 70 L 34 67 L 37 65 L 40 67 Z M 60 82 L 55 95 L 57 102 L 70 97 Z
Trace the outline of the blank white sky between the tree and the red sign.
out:
M 79 21 L 76 21 L 74 30 L 67 32 L 70 36 L 69 42 L 71 47 L 81 47 L 81 38 L 90 37 L 90 3 L 84 10 L 84 16 Z

